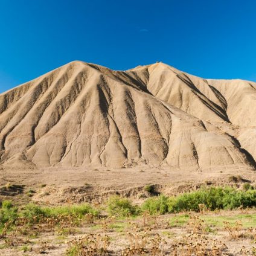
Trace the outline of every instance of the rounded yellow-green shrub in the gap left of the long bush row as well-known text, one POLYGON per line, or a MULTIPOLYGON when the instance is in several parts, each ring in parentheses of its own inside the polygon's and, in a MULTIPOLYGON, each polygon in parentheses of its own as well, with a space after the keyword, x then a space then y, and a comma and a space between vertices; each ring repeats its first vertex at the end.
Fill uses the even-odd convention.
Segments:
POLYGON ((112 196, 107 201, 107 212, 111 216, 127 217, 138 214, 138 208, 126 198, 112 196))

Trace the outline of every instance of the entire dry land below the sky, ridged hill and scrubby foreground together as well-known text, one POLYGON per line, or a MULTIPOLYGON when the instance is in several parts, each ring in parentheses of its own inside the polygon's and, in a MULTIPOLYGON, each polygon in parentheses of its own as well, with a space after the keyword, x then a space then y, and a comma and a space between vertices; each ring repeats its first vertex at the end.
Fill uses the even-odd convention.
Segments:
POLYGON ((255 255, 255 89, 71 62, 0 94, 0 255, 255 255))

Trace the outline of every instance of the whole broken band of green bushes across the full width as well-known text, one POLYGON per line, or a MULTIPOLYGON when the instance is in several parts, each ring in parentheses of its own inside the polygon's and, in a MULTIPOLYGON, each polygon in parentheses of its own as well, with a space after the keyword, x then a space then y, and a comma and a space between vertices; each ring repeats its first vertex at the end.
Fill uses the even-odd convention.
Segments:
MULTIPOLYGON (((179 194, 178 196, 166 197, 164 195, 151 197, 141 206, 133 205, 129 199, 120 196, 112 196, 107 202, 107 212, 110 216, 126 217, 136 216, 144 211, 150 214, 178 213, 180 211, 199 211, 199 204, 204 204, 210 210, 232 210, 242 206, 256 206, 256 190, 236 190, 231 187, 208 187, 199 190, 179 194)), ((98 214, 98 211, 89 204, 43 207, 33 203, 24 208, 14 206, 10 201, 2 202, 0 208, 0 224, 14 221, 17 217, 27 217, 31 221, 39 220, 40 216, 52 217, 58 214, 82 217, 87 213, 98 214), (36 219, 33 217, 37 216, 36 219)))

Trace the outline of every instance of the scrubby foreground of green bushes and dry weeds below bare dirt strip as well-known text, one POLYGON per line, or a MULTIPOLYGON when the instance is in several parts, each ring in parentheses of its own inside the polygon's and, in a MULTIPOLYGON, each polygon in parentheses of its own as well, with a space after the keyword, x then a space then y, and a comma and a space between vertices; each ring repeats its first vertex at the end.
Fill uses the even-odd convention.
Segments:
POLYGON ((155 196, 155 186, 146 185, 139 205, 120 196, 66 206, 4 200, 0 254, 255 255, 256 190, 248 182, 237 189, 240 176, 229 179, 233 187, 203 185, 171 197, 155 196))

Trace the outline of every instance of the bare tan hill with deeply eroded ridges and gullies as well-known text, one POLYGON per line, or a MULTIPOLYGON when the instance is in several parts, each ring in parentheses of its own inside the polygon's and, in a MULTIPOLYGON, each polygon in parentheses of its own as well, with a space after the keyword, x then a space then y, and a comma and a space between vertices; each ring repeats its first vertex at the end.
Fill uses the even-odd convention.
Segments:
POLYGON ((0 94, 5 167, 254 168, 256 83, 71 62, 0 94))

